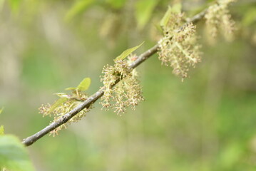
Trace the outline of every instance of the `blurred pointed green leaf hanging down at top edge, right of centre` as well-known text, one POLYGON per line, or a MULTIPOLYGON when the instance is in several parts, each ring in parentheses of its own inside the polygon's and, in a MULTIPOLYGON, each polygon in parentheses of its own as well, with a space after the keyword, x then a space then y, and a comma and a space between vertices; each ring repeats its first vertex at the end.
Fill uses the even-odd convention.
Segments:
POLYGON ((155 6, 158 4, 156 0, 140 0, 135 4, 135 19, 138 23, 138 28, 141 30, 148 23, 155 6))

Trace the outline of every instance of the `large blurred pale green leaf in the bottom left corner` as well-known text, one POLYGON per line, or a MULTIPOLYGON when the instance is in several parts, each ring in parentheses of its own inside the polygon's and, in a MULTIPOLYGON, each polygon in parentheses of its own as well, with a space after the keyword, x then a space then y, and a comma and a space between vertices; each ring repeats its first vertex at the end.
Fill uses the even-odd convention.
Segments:
POLYGON ((12 171, 33 171, 24 145, 14 135, 0 136, 0 166, 12 171))

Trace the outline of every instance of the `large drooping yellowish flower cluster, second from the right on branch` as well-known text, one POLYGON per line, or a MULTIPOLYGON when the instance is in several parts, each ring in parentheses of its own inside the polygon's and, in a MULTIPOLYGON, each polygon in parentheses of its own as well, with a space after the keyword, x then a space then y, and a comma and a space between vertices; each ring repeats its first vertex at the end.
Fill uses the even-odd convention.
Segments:
POLYGON ((176 76, 186 78, 190 66, 200 62, 200 46, 196 43, 195 26, 183 26, 183 14, 172 13, 168 24, 163 27, 164 37, 158 42, 159 59, 171 66, 176 76))

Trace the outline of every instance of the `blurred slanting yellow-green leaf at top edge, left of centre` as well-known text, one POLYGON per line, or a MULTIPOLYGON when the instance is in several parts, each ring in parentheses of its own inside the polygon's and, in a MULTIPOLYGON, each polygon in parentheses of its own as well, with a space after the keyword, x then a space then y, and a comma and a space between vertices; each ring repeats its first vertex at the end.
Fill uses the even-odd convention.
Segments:
POLYGON ((73 4, 73 6, 71 7, 71 9, 68 10, 68 12, 66 13, 65 16, 65 20, 66 21, 70 21, 71 19, 73 19, 74 16, 81 14, 82 12, 86 11, 86 9, 88 9, 88 7, 93 4, 95 0, 80 0, 77 1, 75 4, 73 4))

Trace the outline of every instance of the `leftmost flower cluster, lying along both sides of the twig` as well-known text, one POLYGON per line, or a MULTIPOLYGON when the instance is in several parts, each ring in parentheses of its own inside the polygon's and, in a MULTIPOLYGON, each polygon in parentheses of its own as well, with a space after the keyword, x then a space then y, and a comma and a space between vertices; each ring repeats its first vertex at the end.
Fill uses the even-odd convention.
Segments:
MULTIPOLYGON (((88 95, 77 90, 74 90, 71 93, 71 95, 66 93, 56 93, 56 94, 61 98, 56 100, 56 102, 53 103, 52 105, 48 103, 46 105, 41 105, 41 107, 39 108, 39 113, 43 114, 43 117, 46 115, 48 116, 53 115, 54 117, 53 122, 60 119, 63 115, 65 115, 66 113, 76 108, 78 105, 83 103, 83 101, 86 100, 86 98, 88 98, 88 95)), ((78 120, 81 120, 81 118, 86 116, 86 113, 88 113, 90 109, 91 107, 81 110, 80 113, 73 116, 73 118, 68 120, 67 123, 64 123, 63 125, 59 126, 55 130, 52 130, 50 135, 53 135, 53 137, 58 135, 59 130, 62 130, 63 128, 67 128, 67 125, 70 123, 76 123, 78 122, 78 120)))

